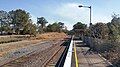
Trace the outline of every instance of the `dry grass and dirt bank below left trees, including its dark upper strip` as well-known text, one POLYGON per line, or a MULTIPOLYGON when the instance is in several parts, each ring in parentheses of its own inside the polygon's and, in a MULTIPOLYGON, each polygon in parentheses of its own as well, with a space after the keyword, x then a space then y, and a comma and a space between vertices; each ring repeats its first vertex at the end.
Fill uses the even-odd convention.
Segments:
POLYGON ((64 33, 45 33, 40 34, 35 38, 30 38, 28 36, 2 36, 0 37, 0 56, 6 55, 6 53, 11 50, 17 50, 30 45, 35 45, 43 40, 57 40, 66 37, 64 33), (22 41, 21 41, 22 40, 22 41))

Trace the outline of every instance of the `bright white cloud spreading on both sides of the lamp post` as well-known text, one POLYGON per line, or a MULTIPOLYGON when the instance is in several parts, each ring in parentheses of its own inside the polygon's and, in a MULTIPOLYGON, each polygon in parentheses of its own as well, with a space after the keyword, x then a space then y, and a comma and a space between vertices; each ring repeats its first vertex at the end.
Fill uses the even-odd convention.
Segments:
MULTIPOLYGON (((64 3, 61 6, 58 6, 54 10, 54 14, 59 16, 60 20, 62 20, 68 29, 72 29, 75 23, 82 22, 89 26, 89 9, 88 8, 79 8, 79 3, 64 3)), ((103 15, 103 14, 93 14, 92 12, 92 23, 95 24, 97 22, 107 23, 110 22, 111 16, 103 15)))

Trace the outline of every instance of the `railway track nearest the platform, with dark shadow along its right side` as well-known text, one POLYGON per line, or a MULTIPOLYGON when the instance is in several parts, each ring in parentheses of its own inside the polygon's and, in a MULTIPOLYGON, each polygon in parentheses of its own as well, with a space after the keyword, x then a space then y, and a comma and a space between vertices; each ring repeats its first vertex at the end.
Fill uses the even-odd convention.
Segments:
POLYGON ((63 67, 68 48, 69 40, 62 44, 53 56, 51 56, 51 58, 44 63, 43 67, 63 67))

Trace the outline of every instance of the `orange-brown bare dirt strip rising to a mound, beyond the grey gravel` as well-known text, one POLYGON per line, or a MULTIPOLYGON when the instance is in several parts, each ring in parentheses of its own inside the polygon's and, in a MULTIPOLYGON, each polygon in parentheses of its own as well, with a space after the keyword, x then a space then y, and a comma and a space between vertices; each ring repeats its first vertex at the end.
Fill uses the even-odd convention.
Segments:
POLYGON ((29 40, 0 44, 0 57, 4 56, 4 54, 6 54, 11 50, 34 45, 43 40, 57 40, 57 39, 63 39, 65 37, 66 37, 65 33, 52 32, 52 33, 39 34, 35 38, 31 38, 29 40))

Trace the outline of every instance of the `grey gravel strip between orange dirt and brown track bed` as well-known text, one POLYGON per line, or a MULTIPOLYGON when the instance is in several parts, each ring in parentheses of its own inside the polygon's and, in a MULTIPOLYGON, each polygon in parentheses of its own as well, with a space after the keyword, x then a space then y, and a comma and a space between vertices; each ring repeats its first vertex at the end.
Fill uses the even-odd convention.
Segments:
POLYGON ((38 43, 34 46, 28 46, 28 47, 10 51, 3 58, 0 59, 0 66, 10 63, 11 61, 17 60, 18 58, 21 58, 23 56, 31 55, 31 54, 35 53, 38 49, 40 49, 40 50, 47 49, 48 47, 51 46, 48 43, 50 43, 50 42, 45 41, 42 43, 38 43), (48 46, 45 47, 43 44, 46 44, 48 46), (42 47, 44 47, 44 49, 42 49, 42 47))

